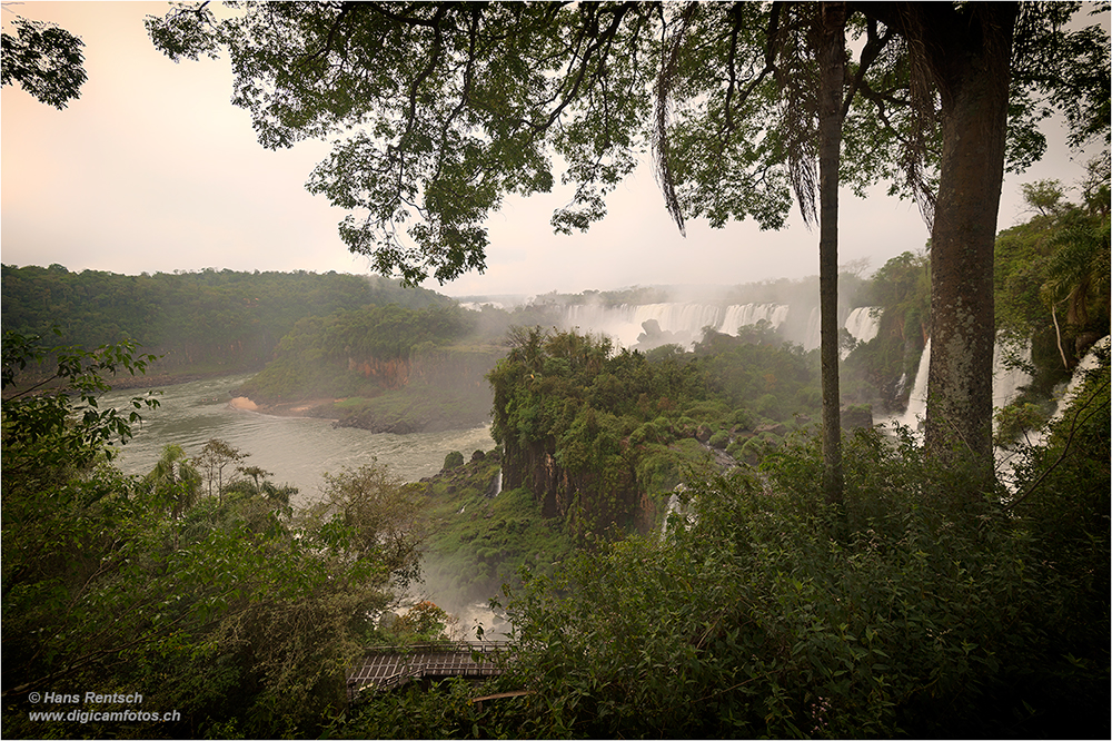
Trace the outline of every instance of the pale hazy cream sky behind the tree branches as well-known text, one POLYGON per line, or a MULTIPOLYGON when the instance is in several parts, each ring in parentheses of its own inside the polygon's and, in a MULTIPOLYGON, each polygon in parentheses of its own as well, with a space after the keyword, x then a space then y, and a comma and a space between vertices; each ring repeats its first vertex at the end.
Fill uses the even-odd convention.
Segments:
MULTIPOLYGON (((70 270, 113 273, 297 270, 365 273, 347 251, 344 217, 304 184, 327 145, 264 149, 250 118, 234 107, 227 60, 176 65, 155 50, 142 19, 162 2, 3 2, 3 24, 18 13, 52 21, 86 43, 89 79, 62 111, 3 88, 2 241, 9 265, 60 263, 70 270)), ((1104 17, 1105 26, 1108 16, 1104 17)), ((1025 217, 1021 182, 1084 172, 1064 134, 1048 130, 1043 161, 1004 182, 999 228, 1025 217)), ((647 167, 612 194, 607 218, 587 234, 552 233, 548 219, 568 194, 513 197, 492 216, 485 274, 439 286, 449 295, 578 293, 634 285, 735 285, 818 271, 817 231, 793 213, 788 228, 759 231, 752 221, 715 230, 689 223, 682 237, 668 219, 647 167)), ((929 234, 910 201, 841 198, 841 263, 868 258, 871 270, 929 234)))

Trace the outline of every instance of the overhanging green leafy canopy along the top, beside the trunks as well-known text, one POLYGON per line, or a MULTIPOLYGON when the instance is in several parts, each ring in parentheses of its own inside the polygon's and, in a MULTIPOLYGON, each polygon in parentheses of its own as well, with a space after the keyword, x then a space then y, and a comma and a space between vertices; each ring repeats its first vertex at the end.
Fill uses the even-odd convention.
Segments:
MULTIPOLYGON (((340 231, 353 250, 374 255, 384 273, 447 280, 485 267, 483 220, 503 196, 547 191, 557 166, 577 190, 553 226, 582 229, 600 218, 603 196, 654 146, 661 117, 685 215, 781 226, 791 206, 787 142, 784 118, 771 113, 791 101, 774 91, 772 73, 787 65, 768 42, 773 33, 781 43, 792 37, 777 29, 780 4, 255 3, 229 14, 201 3, 147 24, 172 59, 228 53, 232 100, 251 112, 264 146, 335 141, 308 186, 351 211, 340 231)), ((911 20, 901 20, 910 11, 880 4, 854 7, 864 17, 850 26, 883 51, 866 52, 880 57, 872 77, 851 66, 862 76, 847 85, 870 105, 847 111, 856 134, 846 142, 846 175, 857 188, 887 178, 910 194, 912 180, 898 174, 917 127, 929 137, 916 155, 929 194, 937 103, 910 105, 909 91, 930 95, 910 88, 915 41, 888 43, 894 32, 911 33, 911 20)), ((1091 71, 1101 60, 1099 28, 1062 28, 1076 10, 1029 3, 1021 13, 1013 167, 1041 155, 1034 124, 1052 106, 1066 110, 1078 142, 1104 130, 1108 83, 1091 71)))

